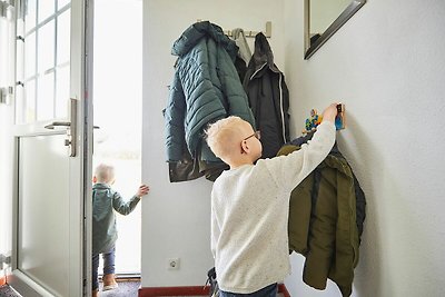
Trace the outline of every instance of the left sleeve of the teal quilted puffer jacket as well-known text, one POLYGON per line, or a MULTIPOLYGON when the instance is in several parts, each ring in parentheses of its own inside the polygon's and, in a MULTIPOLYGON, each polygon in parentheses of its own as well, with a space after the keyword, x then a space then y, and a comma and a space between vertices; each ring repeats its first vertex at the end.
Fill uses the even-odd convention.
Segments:
POLYGON ((175 73, 167 108, 164 112, 166 125, 167 161, 179 161, 182 158, 185 146, 184 118, 186 112, 186 98, 178 73, 175 73))

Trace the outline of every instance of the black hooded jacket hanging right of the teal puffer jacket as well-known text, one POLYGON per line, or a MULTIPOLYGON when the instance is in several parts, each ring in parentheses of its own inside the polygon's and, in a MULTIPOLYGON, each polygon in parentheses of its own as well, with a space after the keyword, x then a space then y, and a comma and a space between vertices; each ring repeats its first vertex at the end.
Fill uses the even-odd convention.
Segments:
POLYGON ((263 157, 275 157, 279 148, 289 141, 289 91, 263 33, 255 37, 254 56, 243 85, 254 112, 256 129, 261 132, 263 157))

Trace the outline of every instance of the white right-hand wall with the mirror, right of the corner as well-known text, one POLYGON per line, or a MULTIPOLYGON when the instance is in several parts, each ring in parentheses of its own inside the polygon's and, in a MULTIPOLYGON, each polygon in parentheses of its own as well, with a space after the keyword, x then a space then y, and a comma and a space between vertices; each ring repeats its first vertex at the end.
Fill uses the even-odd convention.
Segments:
MULTIPOLYGON (((285 1, 293 131, 310 108, 346 103, 339 148, 368 202, 354 296, 445 296, 445 2, 369 0, 307 61, 303 2, 285 1)), ((291 296, 340 296, 291 261, 291 296)))

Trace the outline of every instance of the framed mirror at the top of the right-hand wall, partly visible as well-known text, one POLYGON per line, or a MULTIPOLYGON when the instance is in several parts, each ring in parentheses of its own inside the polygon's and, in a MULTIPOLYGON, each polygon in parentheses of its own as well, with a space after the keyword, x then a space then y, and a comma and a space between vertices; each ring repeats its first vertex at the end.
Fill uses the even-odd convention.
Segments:
POLYGON ((305 60, 309 59, 366 0, 305 0, 305 60))

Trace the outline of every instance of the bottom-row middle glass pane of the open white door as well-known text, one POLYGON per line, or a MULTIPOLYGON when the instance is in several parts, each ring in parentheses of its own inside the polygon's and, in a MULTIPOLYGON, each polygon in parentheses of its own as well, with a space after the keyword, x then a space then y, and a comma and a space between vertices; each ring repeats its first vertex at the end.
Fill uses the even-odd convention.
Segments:
POLYGON ((55 75, 53 72, 40 76, 38 81, 37 120, 53 118, 55 102, 55 75))

